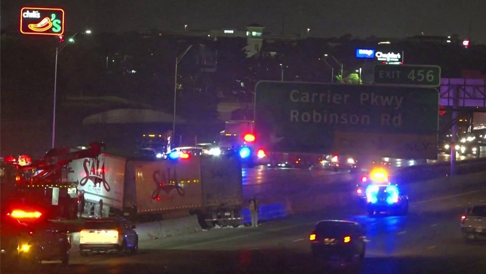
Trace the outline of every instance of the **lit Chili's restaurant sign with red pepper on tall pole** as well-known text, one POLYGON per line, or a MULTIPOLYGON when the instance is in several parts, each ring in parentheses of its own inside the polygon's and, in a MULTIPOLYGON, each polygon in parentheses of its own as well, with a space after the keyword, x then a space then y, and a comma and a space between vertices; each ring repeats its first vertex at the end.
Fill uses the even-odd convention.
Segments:
POLYGON ((64 10, 23 7, 20 10, 20 32, 36 35, 62 35, 64 33, 64 10))

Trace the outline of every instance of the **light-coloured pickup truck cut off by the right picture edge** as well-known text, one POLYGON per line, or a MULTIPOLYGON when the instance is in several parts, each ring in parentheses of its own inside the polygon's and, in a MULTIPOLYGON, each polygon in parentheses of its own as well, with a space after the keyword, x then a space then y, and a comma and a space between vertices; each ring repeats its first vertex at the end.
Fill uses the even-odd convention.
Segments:
POLYGON ((466 241, 486 237, 486 204, 476 204, 461 216, 461 230, 466 241))

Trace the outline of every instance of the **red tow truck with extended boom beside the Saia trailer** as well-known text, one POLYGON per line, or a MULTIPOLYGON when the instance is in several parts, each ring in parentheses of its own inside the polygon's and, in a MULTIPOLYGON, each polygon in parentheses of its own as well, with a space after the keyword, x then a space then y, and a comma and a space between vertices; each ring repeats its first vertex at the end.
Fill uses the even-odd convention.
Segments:
POLYGON ((0 161, 2 193, 16 201, 36 201, 45 208, 48 219, 75 219, 77 186, 68 182, 68 164, 76 159, 96 158, 102 147, 103 143, 93 142, 88 147, 52 148, 38 160, 28 155, 7 156, 0 161))

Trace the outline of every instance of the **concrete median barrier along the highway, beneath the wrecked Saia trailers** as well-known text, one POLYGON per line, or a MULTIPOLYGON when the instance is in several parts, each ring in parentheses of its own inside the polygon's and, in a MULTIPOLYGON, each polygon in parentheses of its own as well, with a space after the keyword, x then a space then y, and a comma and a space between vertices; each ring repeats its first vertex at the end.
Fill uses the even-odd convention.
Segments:
MULTIPOLYGON (((411 201, 417 201, 414 197, 433 198, 438 190, 454 190, 471 186, 486 186, 486 171, 459 175, 456 177, 443 177, 427 181, 419 181, 405 186, 407 195, 411 201)), ((457 192, 457 193, 460 193, 457 192)), ((333 193, 319 193, 316 189, 306 189, 286 197, 273 197, 271 200, 260 201, 260 220, 283 218, 293 214, 325 210, 350 205, 356 202, 354 191, 339 191, 333 193)), ((243 208, 243 220, 250 222, 250 211, 243 208)), ((156 238, 170 237, 173 235, 187 234, 201 230, 196 216, 179 219, 167 219, 155 222, 137 224, 135 229, 139 234, 139 241, 156 238)), ((72 233, 72 250, 79 250, 79 233, 72 233)))

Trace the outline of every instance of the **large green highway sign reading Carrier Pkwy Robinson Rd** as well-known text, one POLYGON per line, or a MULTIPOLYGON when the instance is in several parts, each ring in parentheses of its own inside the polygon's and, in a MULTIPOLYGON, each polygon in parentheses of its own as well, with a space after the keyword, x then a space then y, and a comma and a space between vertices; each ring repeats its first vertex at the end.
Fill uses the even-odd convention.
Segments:
POLYGON ((436 159, 435 88, 260 81, 255 135, 272 151, 436 159))

